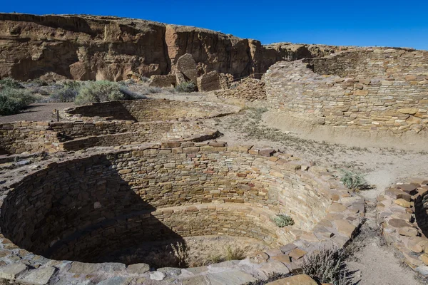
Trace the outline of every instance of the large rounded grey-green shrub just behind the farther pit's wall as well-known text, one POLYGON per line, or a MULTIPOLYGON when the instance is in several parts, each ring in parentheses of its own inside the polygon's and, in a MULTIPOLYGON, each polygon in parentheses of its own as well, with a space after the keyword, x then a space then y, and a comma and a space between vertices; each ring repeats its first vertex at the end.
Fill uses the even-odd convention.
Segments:
POLYGON ((123 100, 124 98, 121 86, 116 82, 88 81, 81 86, 74 102, 78 105, 85 105, 93 102, 123 100))

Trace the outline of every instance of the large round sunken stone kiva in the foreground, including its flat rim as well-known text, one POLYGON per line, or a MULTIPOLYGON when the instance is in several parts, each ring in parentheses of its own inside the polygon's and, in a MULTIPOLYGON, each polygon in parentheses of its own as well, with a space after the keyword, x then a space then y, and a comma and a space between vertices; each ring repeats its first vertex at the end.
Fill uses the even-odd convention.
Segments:
POLYGON ((305 255, 344 247, 365 212, 364 200, 323 167, 224 142, 76 154, 44 162, 1 187, 0 277, 24 282, 43 276, 50 284, 156 279, 165 275, 147 264, 97 262, 113 250, 204 235, 258 239, 271 249, 242 261, 178 269, 169 281, 222 274, 241 284, 273 271, 298 271, 305 255), (295 224, 277 227, 272 217, 278 213, 295 224))

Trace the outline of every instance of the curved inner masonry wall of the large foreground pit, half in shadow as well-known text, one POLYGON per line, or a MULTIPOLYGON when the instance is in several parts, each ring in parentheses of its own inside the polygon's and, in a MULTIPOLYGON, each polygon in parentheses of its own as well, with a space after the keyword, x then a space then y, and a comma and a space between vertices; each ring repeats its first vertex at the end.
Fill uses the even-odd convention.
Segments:
POLYGON ((101 244, 126 247, 123 237, 131 232, 129 242, 221 228, 283 244, 325 217, 330 187, 311 172, 300 172, 298 162, 250 152, 259 150, 168 142, 53 163, 11 186, 1 211, 2 232, 32 252, 55 256, 58 250, 79 258, 101 244), (261 217, 262 209, 267 217, 261 217), (295 225, 277 229, 270 222, 274 212, 290 214, 295 225), (183 222, 186 217, 198 227, 183 222), (104 238, 78 242, 83 232, 104 238))

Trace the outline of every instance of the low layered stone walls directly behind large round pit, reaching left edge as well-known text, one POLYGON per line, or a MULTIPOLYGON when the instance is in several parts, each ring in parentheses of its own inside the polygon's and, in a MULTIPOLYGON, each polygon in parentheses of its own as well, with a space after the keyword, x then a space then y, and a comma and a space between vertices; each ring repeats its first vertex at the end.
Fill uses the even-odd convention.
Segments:
POLYGON ((129 145, 165 140, 206 140, 217 130, 199 122, 68 121, 16 122, 0 125, 0 149, 4 154, 82 150, 95 146, 129 145))

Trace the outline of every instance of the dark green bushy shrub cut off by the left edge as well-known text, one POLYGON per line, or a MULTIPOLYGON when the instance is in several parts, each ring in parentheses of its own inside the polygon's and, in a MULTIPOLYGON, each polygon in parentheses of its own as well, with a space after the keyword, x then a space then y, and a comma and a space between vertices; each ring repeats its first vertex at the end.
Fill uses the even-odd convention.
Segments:
POLYGON ((34 103, 36 98, 29 90, 3 88, 0 90, 0 115, 14 115, 34 103))

